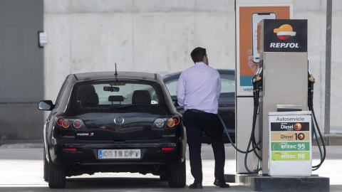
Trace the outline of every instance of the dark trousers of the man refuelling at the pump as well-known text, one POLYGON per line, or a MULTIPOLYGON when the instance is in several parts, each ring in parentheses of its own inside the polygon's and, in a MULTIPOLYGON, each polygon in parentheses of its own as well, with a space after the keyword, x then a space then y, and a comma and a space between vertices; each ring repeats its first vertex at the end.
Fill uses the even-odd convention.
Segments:
POLYGON ((187 130, 191 174, 195 178, 195 183, 202 183, 203 180, 201 158, 202 132, 207 134, 212 143, 215 159, 215 179, 224 181, 223 126, 217 114, 186 110, 183 115, 183 122, 187 130))

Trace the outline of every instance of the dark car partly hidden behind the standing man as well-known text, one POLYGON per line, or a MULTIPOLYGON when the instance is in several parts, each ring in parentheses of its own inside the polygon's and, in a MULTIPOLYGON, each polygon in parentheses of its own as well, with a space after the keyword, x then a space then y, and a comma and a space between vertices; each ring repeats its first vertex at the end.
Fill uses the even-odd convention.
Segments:
MULTIPOLYGON (((219 95, 218 114, 222 118, 224 125, 227 127, 232 142, 235 142, 235 71, 234 70, 218 70, 221 78, 221 94, 219 95)), ((181 72, 165 75, 163 80, 170 92, 174 104, 177 106, 177 82, 181 72)), ((177 110, 183 114, 184 110, 177 107, 177 110)), ((227 133, 223 133, 224 142, 229 143, 227 133)), ((208 143, 209 139, 203 134, 202 143, 208 143)))

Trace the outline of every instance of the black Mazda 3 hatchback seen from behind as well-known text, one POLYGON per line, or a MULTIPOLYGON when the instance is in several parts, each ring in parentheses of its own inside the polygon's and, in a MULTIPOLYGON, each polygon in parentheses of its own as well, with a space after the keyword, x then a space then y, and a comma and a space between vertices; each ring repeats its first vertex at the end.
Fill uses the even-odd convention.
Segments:
POLYGON ((43 129, 44 179, 64 188, 66 176, 95 172, 154 174, 184 187, 186 135, 162 77, 99 72, 66 77, 43 129))

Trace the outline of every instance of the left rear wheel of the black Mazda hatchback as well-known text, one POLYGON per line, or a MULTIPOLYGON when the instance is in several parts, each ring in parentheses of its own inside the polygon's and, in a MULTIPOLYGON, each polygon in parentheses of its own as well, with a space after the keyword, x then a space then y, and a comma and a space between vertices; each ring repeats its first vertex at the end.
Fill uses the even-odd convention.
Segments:
POLYGON ((52 161, 50 161, 48 171, 48 186, 50 188, 65 188, 66 174, 63 169, 59 169, 52 161))

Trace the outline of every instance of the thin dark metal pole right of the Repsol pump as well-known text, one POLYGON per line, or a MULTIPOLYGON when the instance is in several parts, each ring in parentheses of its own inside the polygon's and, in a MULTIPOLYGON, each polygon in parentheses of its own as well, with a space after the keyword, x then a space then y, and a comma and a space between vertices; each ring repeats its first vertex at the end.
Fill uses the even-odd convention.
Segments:
POLYGON ((330 134, 330 98, 331 98, 331 18, 332 0, 326 1, 326 101, 324 110, 324 134, 330 134))

